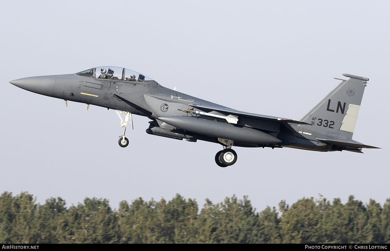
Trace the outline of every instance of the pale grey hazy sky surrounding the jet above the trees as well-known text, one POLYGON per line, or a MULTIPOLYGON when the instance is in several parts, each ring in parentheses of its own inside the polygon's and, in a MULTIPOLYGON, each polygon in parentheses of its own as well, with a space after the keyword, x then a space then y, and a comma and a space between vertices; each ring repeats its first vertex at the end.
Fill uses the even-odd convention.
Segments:
POLYGON ((0 16, 0 191, 44 203, 85 197, 221 202, 248 195, 257 212, 280 200, 350 194, 383 203, 389 193, 388 1, 5 1, 0 16), (145 133, 134 116, 119 147, 113 110, 46 97, 8 81, 125 67, 237 110, 300 119, 341 74, 370 78, 354 140, 383 149, 311 152, 234 148, 220 168, 218 144, 145 133))

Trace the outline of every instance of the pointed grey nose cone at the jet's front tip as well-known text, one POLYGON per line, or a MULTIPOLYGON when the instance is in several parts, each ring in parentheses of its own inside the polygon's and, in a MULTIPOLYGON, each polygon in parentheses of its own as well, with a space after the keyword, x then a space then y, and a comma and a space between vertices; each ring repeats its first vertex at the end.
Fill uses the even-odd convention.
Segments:
POLYGON ((53 92, 54 81, 55 76, 39 76, 20 78, 9 81, 9 83, 30 92, 50 96, 53 92))

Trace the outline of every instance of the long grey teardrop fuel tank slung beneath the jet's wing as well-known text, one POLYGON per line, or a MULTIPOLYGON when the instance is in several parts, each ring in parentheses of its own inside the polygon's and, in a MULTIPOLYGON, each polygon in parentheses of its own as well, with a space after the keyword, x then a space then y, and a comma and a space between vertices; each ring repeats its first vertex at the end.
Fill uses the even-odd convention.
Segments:
POLYGON ((199 117, 167 116, 158 119, 185 131, 216 138, 254 144, 277 144, 282 142, 278 138, 256 129, 199 117))

